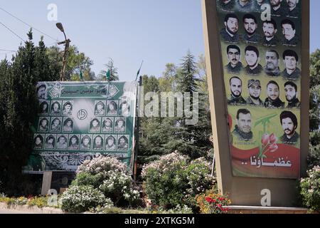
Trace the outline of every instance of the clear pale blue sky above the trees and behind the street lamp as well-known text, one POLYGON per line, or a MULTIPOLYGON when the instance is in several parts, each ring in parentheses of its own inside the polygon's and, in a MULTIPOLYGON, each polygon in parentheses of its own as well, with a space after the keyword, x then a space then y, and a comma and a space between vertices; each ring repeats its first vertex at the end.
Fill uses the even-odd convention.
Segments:
MULTIPOLYGON (((142 74, 161 76, 166 63, 180 63, 186 51, 204 53, 201 0, 28 0, 2 1, 0 7, 53 38, 63 40, 48 21, 48 4, 58 6, 58 21, 79 50, 95 63, 99 73, 109 58, 119 68, 121 81, 142 74)), ((311 0, 311 51, 320 48, 320 1, 311 0), (314 29, 312 29, 314 28, 314 29)), ((28 26, 0 11, 0 22, 26 39, 28 26)), ((0 25, 0 49, 16 50, 21 40, 0 25)), ((34 31, 38 42, 41 33, 34 31)), ((47 45, 55 41, 45 36, 47 45)), ((0 58, 8 51, 0 51, 0 58)))

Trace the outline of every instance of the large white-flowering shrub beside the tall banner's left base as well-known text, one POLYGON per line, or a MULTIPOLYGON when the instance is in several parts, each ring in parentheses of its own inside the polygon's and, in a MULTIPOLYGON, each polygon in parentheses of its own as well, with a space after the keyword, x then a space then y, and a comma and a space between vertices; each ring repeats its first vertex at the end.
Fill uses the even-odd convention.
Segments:
POLYGON ((188 160, 174 152, 144 165, 142 177, 151 204, 165 209, 183 204, 195 209, 196 195, 212 188, 214 179, 210 176, 210 163, 204 158, 188 160))

